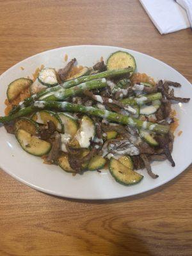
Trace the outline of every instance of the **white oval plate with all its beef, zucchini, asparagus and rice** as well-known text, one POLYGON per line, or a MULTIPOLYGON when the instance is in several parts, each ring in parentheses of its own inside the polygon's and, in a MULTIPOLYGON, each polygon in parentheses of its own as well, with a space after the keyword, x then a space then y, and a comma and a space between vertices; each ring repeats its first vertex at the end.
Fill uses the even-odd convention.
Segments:
POLYGON ((191 84, 146 54, 61 47, 17 63, 0 83, 0 166, 32 188, 121 198, 191 164, 191 84))

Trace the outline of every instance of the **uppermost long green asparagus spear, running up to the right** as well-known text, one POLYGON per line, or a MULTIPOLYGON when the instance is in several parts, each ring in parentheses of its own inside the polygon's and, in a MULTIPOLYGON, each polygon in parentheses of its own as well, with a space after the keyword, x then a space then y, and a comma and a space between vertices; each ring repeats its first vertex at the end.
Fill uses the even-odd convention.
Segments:
POLYGON ((59 84, 57 86, 54 86, 52 88, 47 88, 46 90, 36 93, 34 95, 32 95, 31 97, 28 97, 27 99, 25 99, 22 102, 22 105, 18 105, 16 106, 11 113, 16 113, 17 111, 19 111, 19 109, 21 108, 20 106, 24 106, 27 107, 29 106, 31 103, 35 102, 35 100, 40 99, 40 97, 43 97, 44 95, 51 93, 51 92, 56 92, 58 90, 60 90, 61 88, 70 88, 73 86, 76 86, 77 84, 81 84, 81 83, 85 83, 88 81, 92 81, 95 79, 102 79, 102 78, 109 78, 109 77, 115 77, 115 76, 123 76, 125 74, 129 74, 130 72, 132 72, 132 67, 129 68, 121 68, 121 69, 116 69, 116 70, 107 70, 95 75, 90 75, 90 76, 83 76, 83 77, 79 77, 76 79, 72 79, 70 81, 64 82, 62 84, 59 84))

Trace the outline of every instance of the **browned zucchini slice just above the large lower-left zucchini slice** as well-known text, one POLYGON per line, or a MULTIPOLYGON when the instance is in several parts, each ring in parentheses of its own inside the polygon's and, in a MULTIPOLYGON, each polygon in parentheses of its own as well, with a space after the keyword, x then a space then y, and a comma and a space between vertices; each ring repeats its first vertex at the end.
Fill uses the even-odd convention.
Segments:
POLYGON ((21 117, 15 122, 15 132, 22 129, 31 135, 36 135, 40 131, 39 125, 28 117, 21 117))

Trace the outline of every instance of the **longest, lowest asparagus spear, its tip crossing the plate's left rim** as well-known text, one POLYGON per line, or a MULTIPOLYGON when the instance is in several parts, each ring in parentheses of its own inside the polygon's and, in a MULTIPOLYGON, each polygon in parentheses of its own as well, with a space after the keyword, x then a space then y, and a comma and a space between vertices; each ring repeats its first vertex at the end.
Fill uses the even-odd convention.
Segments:
POLYGON ((143 122, 137 118, 132 118, 129 116, 121 115, 112 111, 102 110, 99 108, 86 107, 83 105, 72 104, 69 102, 57 102, 57 101, 36 101, 32 106, 21 109, 19 112, 0 117, 0 123, 10 122, 15 120, 15 118, 19 118, 20 116, 29 115, 33 111, 38 109, 56 109, 59 111, 69 111, 69 112, 81 112, 86 113, 88 115, 99 116, 102 118, 106 118, 110 121, 117 122, 119 124, 130 125, 131 127, 136 127, 138 129, 148 129, 150 131, 154 131, 157 133, 167 133, 169 131, 169 127, 166 125, 154 124, 151 122, 143 122))

